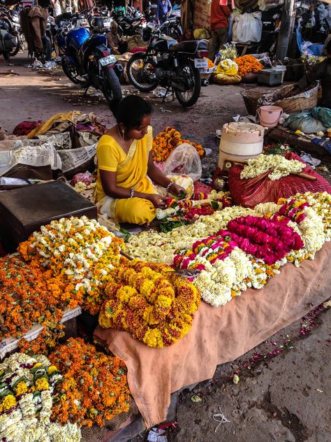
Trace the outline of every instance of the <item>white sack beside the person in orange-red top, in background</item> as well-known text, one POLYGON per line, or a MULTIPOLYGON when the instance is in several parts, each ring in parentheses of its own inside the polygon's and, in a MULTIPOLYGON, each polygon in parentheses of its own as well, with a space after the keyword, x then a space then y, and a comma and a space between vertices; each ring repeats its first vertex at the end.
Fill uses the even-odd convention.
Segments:
POLYGON ((261 15, 260 12, 236 15, 235 24, 233 24, 233 41, 238 43, 258 43, 261 41, 261 15))

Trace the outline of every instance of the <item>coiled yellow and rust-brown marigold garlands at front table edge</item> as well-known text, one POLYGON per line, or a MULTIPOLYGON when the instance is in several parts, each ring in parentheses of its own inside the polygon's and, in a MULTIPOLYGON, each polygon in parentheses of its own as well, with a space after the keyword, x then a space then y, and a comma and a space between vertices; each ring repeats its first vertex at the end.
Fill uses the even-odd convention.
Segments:
POLYGON ((108 300, 99 315, 103 328, 131 332, 149 347, 165 347, 189 332, 200 294, 165 264, 138 260, 112 271, 108 300))

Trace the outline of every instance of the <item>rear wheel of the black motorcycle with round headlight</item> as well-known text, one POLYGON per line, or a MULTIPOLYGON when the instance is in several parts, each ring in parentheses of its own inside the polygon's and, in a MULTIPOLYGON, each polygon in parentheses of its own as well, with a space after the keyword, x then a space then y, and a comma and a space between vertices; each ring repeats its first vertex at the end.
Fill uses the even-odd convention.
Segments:
POLYGON ((190 106, 193 106, 193 104, 196 104, 201 91, 200 72, 196 69, 190 59, 179 60, 179 79, 182 79, 185 82, 192 82, 192 87, 184 92, 174 88, 179 104, 184 106, 184 108, 189 108, 190 106))

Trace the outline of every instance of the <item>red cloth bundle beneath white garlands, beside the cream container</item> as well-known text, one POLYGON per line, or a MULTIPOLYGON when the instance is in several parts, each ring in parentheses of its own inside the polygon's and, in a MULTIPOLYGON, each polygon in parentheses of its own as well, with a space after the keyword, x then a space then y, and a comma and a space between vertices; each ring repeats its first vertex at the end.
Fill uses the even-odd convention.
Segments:
MULTIPOLYGON (((297 159, 304 163, 298 155, 292 152, 286 153, 285 157, 286 159, 297 159)), ((272 181, 267 178, 270 171, 256 178, 242 180, 240 178, 242 169, 244 169, 244 165, 235 164, 231 167, 228 176, 230 192, 237 206, 253 208, 259 203, 269 201, 276 203, 279 198, 289 198, 298 192, 328 192, 331 194, 331 186, 328 181, 314 172, 310 166, 306 166, 302 173, 315 176, 317 178, 315 181, 295 175, 284 176, 280 180, 272 181)))

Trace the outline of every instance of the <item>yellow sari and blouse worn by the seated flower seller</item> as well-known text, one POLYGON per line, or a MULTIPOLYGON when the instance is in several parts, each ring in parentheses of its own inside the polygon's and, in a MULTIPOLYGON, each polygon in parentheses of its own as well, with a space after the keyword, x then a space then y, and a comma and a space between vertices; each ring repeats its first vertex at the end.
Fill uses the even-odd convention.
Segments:
POLYGON ((116 172, 117 185, 137 192, 154 194, 152 182, 147 177, 149 151, 152 149, 152 127, 141 140, 134 140, 128 154, 115 138, 103 135, 96 148, 98 176, 96 181, 96 203, 101 215, 107 215, 117 222, 145 224, 155 218, 155 208, 147 199, 108 197, 103 191, 100 170, 116 172))

